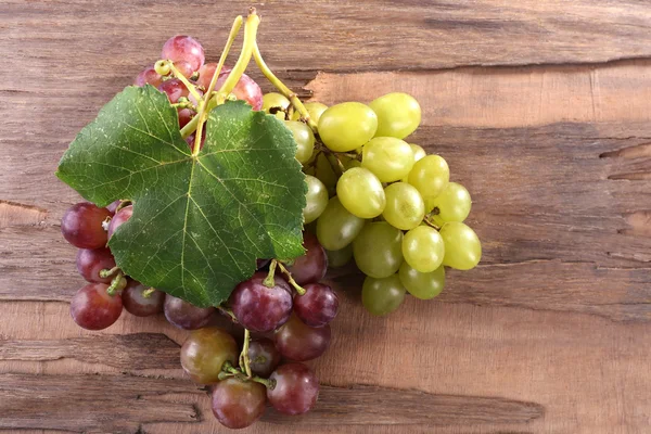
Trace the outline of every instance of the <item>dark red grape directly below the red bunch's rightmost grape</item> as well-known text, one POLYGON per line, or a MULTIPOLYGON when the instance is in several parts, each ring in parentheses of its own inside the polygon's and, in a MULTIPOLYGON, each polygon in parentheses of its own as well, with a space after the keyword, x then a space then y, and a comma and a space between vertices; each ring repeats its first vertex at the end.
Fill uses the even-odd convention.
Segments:
POLYGON ((284 357, 307 361, 321 356, 330 346, 330 326, 309 327, 295 315, 273 336, 276 347, 284 357))

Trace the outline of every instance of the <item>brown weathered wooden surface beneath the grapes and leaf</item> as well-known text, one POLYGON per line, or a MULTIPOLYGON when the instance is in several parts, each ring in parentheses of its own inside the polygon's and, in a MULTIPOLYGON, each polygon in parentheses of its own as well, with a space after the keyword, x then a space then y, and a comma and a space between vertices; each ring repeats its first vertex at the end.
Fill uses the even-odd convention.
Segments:
MULTIPOLYGON (((52 174, 167 37, 190 33, 214 60, 248 5, 0 0, 0 430, 226 431, 179 368, 183 332, 129 315, 102 333, 73 323, 81 279, 59 220, 78 197, 52 174)), ((484 258, 386 318, 363 312, 359 278, 337 278, 318 407, 248 432, 650 432, 651 4, 258 9, 268 63, 302 94, 419 99, 411 141, 469 187, 484 258)))

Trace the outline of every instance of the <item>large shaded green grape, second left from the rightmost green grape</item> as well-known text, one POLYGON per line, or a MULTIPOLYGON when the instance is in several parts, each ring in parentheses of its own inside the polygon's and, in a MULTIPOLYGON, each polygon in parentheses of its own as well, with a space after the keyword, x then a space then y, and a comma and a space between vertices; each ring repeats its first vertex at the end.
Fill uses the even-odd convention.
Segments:
POLYGON ((403 231, 386 221, 367 224, 353 241, 355 264, 375 279, 394 275, 403 264, 403 231))

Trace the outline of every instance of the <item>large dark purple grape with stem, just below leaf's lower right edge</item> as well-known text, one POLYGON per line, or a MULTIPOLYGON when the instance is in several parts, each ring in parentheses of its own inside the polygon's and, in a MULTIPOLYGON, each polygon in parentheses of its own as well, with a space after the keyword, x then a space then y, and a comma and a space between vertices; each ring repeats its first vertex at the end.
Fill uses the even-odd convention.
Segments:
POLYGON ((281 277, 267 288, 266 272, 256 272, 235 286, 229 303, 240 324, 248 330, 267 333, 284 324, 292 314, 292 289, 281 277))

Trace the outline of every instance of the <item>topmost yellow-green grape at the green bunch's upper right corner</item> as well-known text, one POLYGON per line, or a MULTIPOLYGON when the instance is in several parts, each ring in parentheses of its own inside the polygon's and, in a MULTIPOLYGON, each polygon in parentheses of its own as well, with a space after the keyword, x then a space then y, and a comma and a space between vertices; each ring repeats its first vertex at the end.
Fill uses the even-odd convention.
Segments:
POLYGON ((378 115, 375 137, 404 139, 416 131, 420 125, 420 105, 407 93, 387 93, 371 102, 369 106, 378 115))

